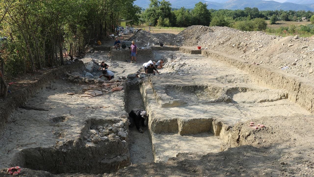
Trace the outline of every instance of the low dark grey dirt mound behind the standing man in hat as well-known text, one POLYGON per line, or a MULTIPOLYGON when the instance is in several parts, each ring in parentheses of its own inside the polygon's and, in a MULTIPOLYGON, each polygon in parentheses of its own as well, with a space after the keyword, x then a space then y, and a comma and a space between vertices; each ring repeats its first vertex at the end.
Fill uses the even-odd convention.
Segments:
POLYGON ((181 45, 181 40, 171 33, 149 33, 144 30, 139 30, 134 36, 127 39, 127 41, 135 41, 138 46, 148 46, 149 45, 159 45, 163 43, 164 45, 179 46, 181 45))

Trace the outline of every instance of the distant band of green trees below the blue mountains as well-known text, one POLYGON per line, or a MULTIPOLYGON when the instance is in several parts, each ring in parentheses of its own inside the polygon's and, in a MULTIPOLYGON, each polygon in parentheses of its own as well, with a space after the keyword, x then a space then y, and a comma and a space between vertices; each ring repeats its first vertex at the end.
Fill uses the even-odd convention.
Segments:
POLYGON ((152 23, 154 26, 187 27, 191 25, 230 26, 238 21, 247 21, 256 18, 282 21, 297 21, 302 17, 310 20, 314 12, 295 10, 265 10, 246 7, 244 10, 207 9, 207 4, 197 3, 194 9, 172 9, 171 3, 165 0, 150 0, 149 8, 140 14, 139 23, 152 23))

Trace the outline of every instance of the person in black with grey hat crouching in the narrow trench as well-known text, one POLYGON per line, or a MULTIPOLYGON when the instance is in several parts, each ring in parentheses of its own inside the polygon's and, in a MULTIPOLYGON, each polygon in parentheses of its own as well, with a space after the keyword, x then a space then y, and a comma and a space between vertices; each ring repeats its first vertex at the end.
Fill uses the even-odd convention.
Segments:
POLYGON ((133 109, 129 113, 129 119, 130 119, 130 125, 129 127, 134 127, 134 124, 139 132, 143 133, 143 129, 140 128, 140 122, 142 123, 142 127, 146 127, 145 125, 145 119, 148 118, 148 114, 143 109, 133 109))

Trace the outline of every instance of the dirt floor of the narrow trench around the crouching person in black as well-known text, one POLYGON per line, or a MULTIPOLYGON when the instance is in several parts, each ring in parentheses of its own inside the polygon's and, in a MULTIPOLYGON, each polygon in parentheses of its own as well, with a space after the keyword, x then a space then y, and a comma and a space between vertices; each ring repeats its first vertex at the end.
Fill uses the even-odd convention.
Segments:
MULTIPOLYGON (((127 112, 132 109, 145 109, 143 99, 138 89, 130 90, 128 94, 127 112)), ((145 123, 147 124, 147 123, 145 123)), ((148 127, 143 128, 144 133, 139 133, 136 127, 130 128, 130 158, 131 163, 154 162, 152 141, 149 138, 148 127)))

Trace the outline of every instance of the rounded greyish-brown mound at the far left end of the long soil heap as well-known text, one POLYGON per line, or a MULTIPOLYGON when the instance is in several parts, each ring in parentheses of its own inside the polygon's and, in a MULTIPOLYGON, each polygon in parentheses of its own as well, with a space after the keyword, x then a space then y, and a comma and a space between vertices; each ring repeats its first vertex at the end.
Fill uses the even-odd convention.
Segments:
POLYGON ((213 30, 208 26, 193 25, 181 31, 177 37, 181 39, 183 45, 193 46, 196 45, 204 35, 212 32, 213 30))

